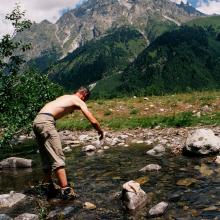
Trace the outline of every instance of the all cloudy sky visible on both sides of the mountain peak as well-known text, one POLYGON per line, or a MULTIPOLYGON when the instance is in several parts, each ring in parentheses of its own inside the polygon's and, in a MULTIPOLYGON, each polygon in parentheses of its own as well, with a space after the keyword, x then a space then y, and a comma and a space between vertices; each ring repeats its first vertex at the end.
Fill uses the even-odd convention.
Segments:
MULTIPOLYGON (((32 22, 41 22, 47 19, 55 23, 68 9, 73 9, 85 0, 0 0, 0 37, 12 33, 12 26, 5 21, 5 15, 10 13, 19 3, 26 11, 26 18, 32 22)), ((180 3, 181 0, 170 0, 180 3)), ((187 0, 182 0, 186 3, 187 0)), ((220 0, 188 0, 192 6, 206 14, 220 14, 220 0)))

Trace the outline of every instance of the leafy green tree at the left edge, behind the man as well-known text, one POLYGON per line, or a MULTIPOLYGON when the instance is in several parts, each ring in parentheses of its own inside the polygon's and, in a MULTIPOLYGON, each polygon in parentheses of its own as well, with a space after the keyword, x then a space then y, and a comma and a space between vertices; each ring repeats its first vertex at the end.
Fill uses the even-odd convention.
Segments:
POLYGON ((46 75, 34 70, 22 70, 24 52, 30 44, 16 41, 16 34, 30 28, 30 20, 16 5, 6 15, 14 27, 12 35, 6 34, 0 40, 0 146, 9 144, 11 138, 30 129, 36 112, 44 102, 62 93, 62 89, 51 83, 46 75))

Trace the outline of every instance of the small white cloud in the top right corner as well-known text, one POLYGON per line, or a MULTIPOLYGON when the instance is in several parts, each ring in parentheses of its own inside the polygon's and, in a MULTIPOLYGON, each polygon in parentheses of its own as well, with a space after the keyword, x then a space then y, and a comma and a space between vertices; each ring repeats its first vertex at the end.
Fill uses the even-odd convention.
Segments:
POLYGON ((220 14, 220 0, 200 0, 196 9, 208 15, 220 14))

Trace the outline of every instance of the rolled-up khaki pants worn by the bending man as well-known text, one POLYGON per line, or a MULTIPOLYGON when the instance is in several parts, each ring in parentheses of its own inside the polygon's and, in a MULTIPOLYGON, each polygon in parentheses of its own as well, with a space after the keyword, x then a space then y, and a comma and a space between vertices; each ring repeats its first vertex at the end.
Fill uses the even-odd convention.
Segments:
POLYGON ((60 136, 53 116, 38 114, 33 122, 33 130, 39 145, 44 170, 56 170, 65 166, 60 136))

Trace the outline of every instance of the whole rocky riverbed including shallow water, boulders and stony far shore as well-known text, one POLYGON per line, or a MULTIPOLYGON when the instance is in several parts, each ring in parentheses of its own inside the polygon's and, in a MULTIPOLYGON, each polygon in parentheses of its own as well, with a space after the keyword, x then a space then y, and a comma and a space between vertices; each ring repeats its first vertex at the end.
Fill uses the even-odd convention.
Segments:
MULTIPOLYGON (((35 195, 26 193, 42 176, 34 147, 35 153, 26 158, 35 162, 32 168, 16 168, 21 160, 15 158, 1 163, 0 200, 13 205, 2 205, 0 219, 218 219, 220 171, 215 150, 219 146, 219 127, 106 131, 101 142, 95 131, 60 131, 60 135, 68 177, 80 197, 67 203, 48 202, 40 191, 35 195), (195 151, 211 139, 213 148, 208 149, 213 152, 205 157, 182 155, 187 142, 196 143, 192 148, 195 151), (8 169, 10 166, 13 169, 8 169), (134 187, 130 187, 131 180, 134 187), (127 202, 123 203, 125 189, 127 202), (10 193, 12 190, 16 192, 10 193), (131 213, 129 207, 136 206, 137 211, 131 213)), ((22 136, 16 141, 22 147, 23 141, 31 138, 22 136)))

